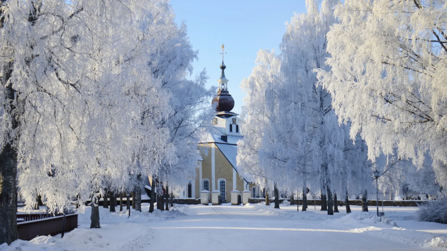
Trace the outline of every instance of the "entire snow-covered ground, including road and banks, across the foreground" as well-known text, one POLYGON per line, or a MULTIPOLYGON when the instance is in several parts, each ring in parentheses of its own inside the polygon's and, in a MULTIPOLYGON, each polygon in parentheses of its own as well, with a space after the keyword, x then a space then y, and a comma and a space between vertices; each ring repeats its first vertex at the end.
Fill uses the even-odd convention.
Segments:
MULTIPOLYGON (((118 207, 117 207, 118 209, 118 207)), ((100 207, 101 229, 89 229, 90 210, 79 215, 80 228, 59 236, 18 240, 1 251, 83 250, 426 250, 447 249, 447 225, 413 220, 416 208, 385 207, 328 216, 319 207, 296 212, 296 206, 264 204, 178 205, 169 212, 109 213, 100 207)))

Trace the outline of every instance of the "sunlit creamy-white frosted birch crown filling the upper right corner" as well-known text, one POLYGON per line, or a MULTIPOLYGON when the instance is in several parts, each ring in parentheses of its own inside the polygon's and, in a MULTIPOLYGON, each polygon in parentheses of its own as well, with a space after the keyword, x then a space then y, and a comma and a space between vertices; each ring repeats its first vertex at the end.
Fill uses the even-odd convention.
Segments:
POLYGON ((320 84, 333 97, 340 122, 352 121, 368 156, 433 158, 447 184, 447 4, 441 0, 346 0, 328 33, 331 56, 320 84))

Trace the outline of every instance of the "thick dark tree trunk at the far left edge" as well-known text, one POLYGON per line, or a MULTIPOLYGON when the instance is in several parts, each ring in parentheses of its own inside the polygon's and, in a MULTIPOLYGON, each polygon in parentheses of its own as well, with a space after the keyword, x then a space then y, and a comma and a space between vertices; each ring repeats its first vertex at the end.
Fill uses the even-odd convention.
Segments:
POLYGON ((0 153, 0 243, 19 238, 16 215, 17 151, 9 142, 0 153))

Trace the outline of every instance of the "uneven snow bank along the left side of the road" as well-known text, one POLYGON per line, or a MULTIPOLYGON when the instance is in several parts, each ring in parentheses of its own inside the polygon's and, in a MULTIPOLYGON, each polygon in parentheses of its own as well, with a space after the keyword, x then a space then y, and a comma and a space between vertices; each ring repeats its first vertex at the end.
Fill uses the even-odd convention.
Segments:
MULTIPOLYGON (((122 212, 109 212, 109 209, 99 207, 100 229, 89 229, 90 206, 78 215, 80 228, 65 233, 63 238, 56 236, 38 236, 30 241, 17 240, 7 246, 0 245, 0 251, 110 251, 110 250, 139 250, 149 245, 152 239, 152 230, 148 225, 133 222, 164 221, 186 215, 188 207, 177 205, 169 211, 155 209, 149 213, 149 204, 143 203, 142 212, 131 209, 131 217, 127 218, 127 210, 122 212), (132 241, 135 240, 135 241, 132 241), (110 247, 113 247, 112 249, 110 247)), ((119 206, 116 207, 119 211, 119 206)))

